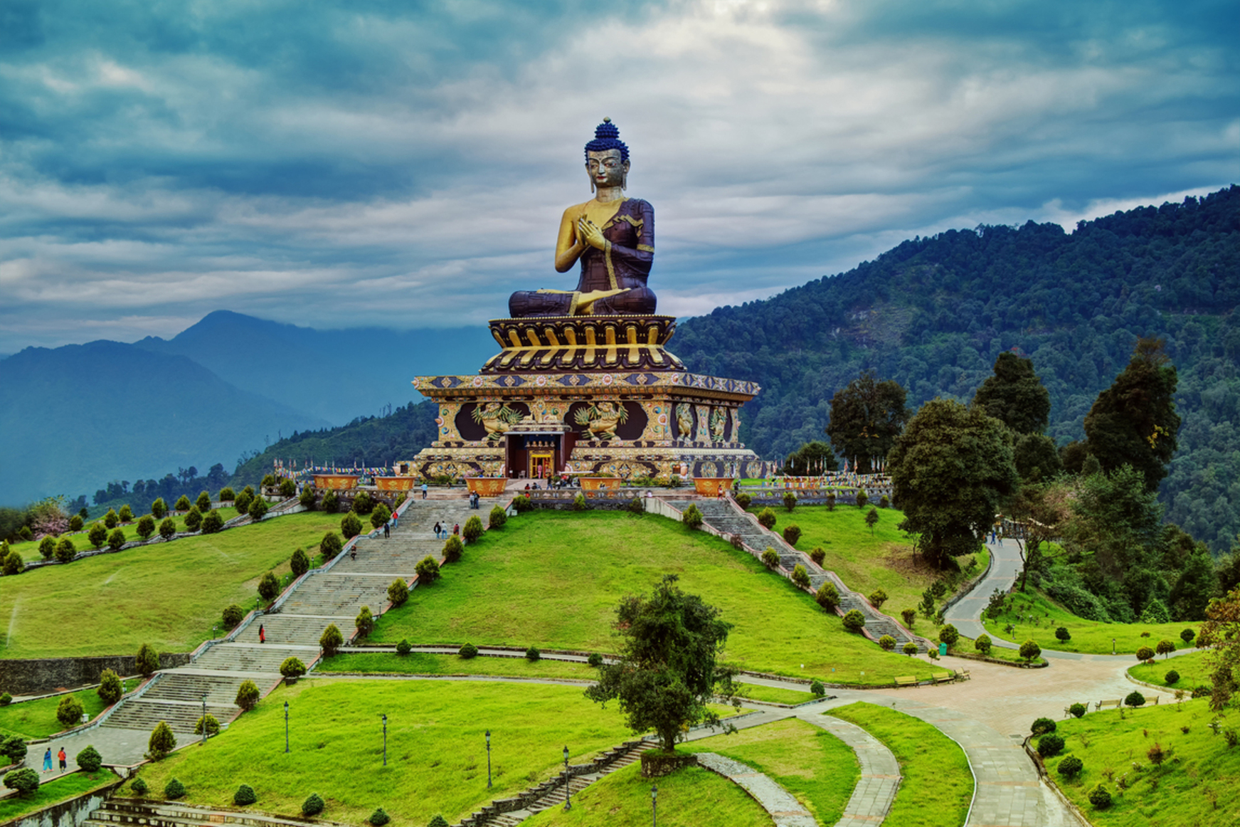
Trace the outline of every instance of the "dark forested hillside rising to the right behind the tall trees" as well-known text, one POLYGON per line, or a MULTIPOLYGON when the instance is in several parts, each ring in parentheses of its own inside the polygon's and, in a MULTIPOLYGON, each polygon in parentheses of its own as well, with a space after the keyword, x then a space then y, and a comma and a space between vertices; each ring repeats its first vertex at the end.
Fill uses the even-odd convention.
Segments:
POLYGON ((1240 187, 1081 222, 916 238, 848 273, 686 320, 693 371, 751 379, 742 439, 769 459, 822 439, 828 400, 862 369, 909 391, 972 398, 1018 348, 1050 391, 1048 433, 1083 436, 1097 393, 1140 336, 1179 371, 1179 451, 1166 518, 1218 553, 1240 532, 1240 187))

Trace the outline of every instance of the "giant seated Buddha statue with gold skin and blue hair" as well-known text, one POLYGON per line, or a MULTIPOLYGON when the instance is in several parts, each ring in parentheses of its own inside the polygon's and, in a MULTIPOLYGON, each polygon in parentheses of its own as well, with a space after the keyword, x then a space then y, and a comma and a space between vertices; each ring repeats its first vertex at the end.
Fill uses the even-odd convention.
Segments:
POLYGON ((585 171, 595 195, 564 211, 556 242, 557 272, 582 263, 577 289, 513 293, 513 319, 655 312, 655 294, 646 286, 655 260, 655 208, 624 193, 629 148, 610 118, 585 145, 585 171))

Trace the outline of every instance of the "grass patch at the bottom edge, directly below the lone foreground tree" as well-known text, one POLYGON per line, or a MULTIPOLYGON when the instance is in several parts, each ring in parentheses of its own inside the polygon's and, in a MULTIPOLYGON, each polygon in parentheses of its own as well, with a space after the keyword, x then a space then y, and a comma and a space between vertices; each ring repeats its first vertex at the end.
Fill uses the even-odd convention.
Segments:
MULTIPOLYGON (((657 779, 660 827, 770 827, 771 820, 744 790, 711 770, 689 766, 657 779)), ((632 764, 573 796, 573 808, 549 807, 523 823, 529 827, 647 827, 652 818, 650 779, 632 764)), ((420 823, 419 823, 420 827, 420 823)))

